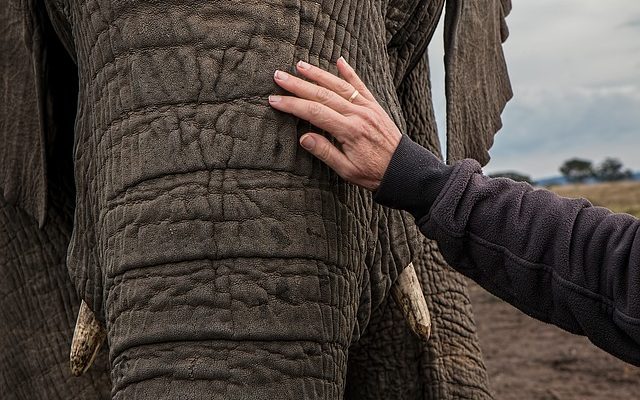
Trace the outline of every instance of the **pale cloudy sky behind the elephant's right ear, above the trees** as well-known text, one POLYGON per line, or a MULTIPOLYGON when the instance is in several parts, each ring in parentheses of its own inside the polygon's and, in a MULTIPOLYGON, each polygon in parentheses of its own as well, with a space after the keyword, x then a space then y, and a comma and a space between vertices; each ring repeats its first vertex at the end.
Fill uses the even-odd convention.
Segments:
MULTIPOLYGON (((514 1, 507 24, 514 98, 485 172, 539 179, 573 157, 614 157, 640 171, 640 1, 514 1)), ((441 133, 442 48, 439 27, 429 53, 441 133)))

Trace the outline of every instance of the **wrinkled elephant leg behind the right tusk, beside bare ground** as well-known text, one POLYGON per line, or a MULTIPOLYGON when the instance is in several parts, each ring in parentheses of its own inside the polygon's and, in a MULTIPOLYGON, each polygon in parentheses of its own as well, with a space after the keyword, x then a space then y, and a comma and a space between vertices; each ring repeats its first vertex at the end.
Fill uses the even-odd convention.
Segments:
POLYGON ((345 398, 491 399, 464 278, 434 242, 414 264, 432 318, 428 341, 408 327, 388 300, 349 350, 345 398))

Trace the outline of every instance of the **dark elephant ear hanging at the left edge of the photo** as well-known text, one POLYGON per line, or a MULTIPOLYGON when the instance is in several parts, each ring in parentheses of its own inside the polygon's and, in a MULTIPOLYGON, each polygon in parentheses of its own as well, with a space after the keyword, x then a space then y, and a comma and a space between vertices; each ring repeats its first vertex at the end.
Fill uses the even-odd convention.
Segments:
POLYGON ((28 2, 1 7, 0 189, 5 200, 44 223, 46 151, 44 133, 43 37, 28 2))

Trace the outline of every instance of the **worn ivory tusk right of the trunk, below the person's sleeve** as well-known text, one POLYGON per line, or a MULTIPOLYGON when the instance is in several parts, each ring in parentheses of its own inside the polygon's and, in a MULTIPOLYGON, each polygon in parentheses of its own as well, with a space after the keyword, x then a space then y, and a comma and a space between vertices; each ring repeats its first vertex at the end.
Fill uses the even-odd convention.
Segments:
POLYGON ((410 263, 398 276, 398 280, 391 288, 391 296, 402 309, 411 330, 419 337, 429 339, 431 315, 413 263, 410 263))

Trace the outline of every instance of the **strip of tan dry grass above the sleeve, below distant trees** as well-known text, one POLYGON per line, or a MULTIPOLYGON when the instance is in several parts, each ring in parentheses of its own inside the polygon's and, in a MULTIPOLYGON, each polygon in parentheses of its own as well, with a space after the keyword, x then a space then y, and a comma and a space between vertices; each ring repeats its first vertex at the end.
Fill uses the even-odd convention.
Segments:
POLYGON ((549 189, 560 196, 584 197, 595 205, 640 218, 640 181, 553 186, 549 189))

